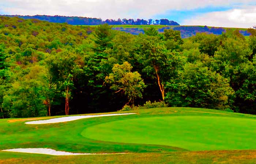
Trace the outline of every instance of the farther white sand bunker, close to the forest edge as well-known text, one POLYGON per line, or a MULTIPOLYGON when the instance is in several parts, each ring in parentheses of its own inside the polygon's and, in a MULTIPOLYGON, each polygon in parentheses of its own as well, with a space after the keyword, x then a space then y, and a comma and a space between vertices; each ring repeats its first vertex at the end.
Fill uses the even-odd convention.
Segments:
POLYGON ((88 116, 69 116, 69 117, 52 118, 52 119, 49 119, 49 120, 29 121, 29 122, 25 122, 25 124, 53 124, 53 123, 59 123, 59 122, 74 121, 74 120, 79 120, 79 119, 83 119, 83 118, 105 117, 105 116, 121 116, 121 115, 129 115, 129 114, 136 114, 136 113, 101 114, 101 115, 88 115, 88 116))

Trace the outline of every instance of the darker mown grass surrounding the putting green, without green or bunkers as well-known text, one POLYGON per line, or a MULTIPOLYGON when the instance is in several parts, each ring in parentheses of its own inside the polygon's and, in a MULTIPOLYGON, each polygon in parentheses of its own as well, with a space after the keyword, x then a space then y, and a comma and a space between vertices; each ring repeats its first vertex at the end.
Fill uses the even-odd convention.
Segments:
MULTIPOLYGON (((0 163, 31 163, 35 160, 35 163, 52 163, 50 161, 70 163, 68 161, 75 161, 80 163, 81 161, 99 161, 103 160, 106 163, 115 163, 117 161, 128 160, 135 163, 143 163, 143 158, 150 160, 152 163, 166 163, 170 160, 178 163, 186 163, 186 161, 195 159, 195 162, 202 161, 206 158, 206 161, 212 161, 213 159, 229 160, 228 155, 234 156, 234 159, 251 159, 255 162, 251 153, 255 151, 229 151, 229 152, 182 152, 184 149, 161 146, 161 145, 149 145, 149 144, 120 144, 118 142, 106 142, 91 140, 83 137, 81 132, 88 127, 110 122, 110 121, 122 121, 135 118, 148 118, 150 116, 162 117, 162 116, 209 116, 209 117, 225 117, 225 118, 248 118, 248 120, 255 120, 256 117, 252 115, 229 113, 217 110, 207 109, 195 109, 195 108, 158 108, 158 109, 144 109, 139 111, 131 111, 139 113, 138 115, 129 116, 113 116, 113 117, 98 117, 89 118, 84 120, 77 120, 72 122, 64 122, 59 124, 49 125, 26 125, 23 119, 4 119, 0 120, 0 149, 11 148, 53 148, 60 151, 70 152, 136 152, 136 154, 127 155, 93 155, 93 156, 79 156, 79 157, 53 157, 44 155, 32 155, 26 153, 11 153, 0 152, 0 163), (164 153, 146 153, 146 152, 159 152, 158 149, 163 149, 164 153), (173 151, 179 151, 172 153, 173 151), (145 153, 138 153, 145 152, 145 153), (202 154, 208 154, 204 157, 202 154), (183 156, 188 158, 183 159, 183 156), (236 157, 239 156, 239 157, 236 157), (48 159, 48 160, 47 160, 48 159), (64 160, 66 159, 66 160, 64 160), (25 161, 24 161, 25 160, 25 161)), ((253 125, 246 125, 253 126, 253 125)), ((249 136, 248 136, 249 137, 249 136)), ((232 138, 230 138, 232 140, 232 138)), ((255 153, 256 154, 256 153, 255 153)), ((255 155, 254 155, 255 157, 255 155)), ((218 160, 217 160, 218 161, 218 160)), ((97 162, 95 162, 97 163, 97 162)))

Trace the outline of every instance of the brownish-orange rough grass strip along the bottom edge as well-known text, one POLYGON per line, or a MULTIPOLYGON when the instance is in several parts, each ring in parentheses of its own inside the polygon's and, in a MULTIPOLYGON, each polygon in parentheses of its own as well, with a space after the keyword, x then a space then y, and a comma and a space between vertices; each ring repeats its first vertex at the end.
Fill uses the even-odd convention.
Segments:
POLYGON ((48 156, 0 152, 0 164, 255 164, 256 151, 188 151, 121 155, 48 156))

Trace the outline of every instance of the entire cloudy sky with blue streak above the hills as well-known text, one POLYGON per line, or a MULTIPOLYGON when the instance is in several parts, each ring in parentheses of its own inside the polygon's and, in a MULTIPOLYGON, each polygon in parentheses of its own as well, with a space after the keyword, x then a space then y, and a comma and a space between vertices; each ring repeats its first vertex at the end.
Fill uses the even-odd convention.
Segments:
POLYGON ((256 0, 0 0, 0 14, 174 20, 181 25, 250 28, 256 0))

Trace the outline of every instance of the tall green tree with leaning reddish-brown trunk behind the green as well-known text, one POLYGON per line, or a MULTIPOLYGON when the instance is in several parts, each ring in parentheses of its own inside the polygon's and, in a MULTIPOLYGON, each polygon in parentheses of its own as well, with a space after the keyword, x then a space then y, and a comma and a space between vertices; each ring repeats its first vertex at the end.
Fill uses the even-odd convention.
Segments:
POLYGON ((178 52, 170 52, 158 36, 140 35, 137 41, 138 61, 144 66, 143 71, 157 79, 162 100, 165 99, 165 83, 174 78, 176 71, 183 65, 178 52))

